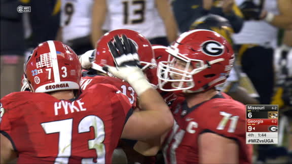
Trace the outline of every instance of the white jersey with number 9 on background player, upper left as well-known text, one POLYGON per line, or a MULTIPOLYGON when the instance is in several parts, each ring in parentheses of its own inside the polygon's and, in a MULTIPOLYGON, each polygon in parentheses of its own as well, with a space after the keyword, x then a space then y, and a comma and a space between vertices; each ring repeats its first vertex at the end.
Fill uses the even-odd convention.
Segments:
POLYGON ((61 1, 60 25, 64 43, 90 34, 93 3, 94 0, 61 1))

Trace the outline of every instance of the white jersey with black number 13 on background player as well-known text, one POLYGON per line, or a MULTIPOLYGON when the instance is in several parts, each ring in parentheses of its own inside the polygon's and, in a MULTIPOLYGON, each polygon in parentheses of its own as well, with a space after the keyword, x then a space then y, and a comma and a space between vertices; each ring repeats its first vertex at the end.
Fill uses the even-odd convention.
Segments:
POLYGON ((148 39, 166 36, 155 0, 107 0, 109 30, 135 30, 148 39))

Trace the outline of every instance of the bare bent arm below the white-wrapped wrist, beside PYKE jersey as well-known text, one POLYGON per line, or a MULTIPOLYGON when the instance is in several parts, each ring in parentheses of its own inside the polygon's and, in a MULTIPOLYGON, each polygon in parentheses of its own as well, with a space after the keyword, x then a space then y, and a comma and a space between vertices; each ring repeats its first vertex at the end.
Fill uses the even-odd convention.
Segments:
POLYGON ((149 88, 138 96, 142 110, 129 117, 122 138, 147 141, 167 132, 172 127, 173 117, 159 93, 149 88))

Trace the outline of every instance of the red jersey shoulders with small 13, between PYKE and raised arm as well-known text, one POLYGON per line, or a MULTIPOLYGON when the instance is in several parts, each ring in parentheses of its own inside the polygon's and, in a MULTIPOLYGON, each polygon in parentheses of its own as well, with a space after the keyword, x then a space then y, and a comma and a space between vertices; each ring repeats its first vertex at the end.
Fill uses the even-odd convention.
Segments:
POLYGON ((116 86, 129 99, 133 109, 136 107, 137 94, 134 89, 126 82, 116 77, 109 77, 103 75, 83 76, 81 78, 81 89, 86 90, 94 84, 111 84, 116 86))

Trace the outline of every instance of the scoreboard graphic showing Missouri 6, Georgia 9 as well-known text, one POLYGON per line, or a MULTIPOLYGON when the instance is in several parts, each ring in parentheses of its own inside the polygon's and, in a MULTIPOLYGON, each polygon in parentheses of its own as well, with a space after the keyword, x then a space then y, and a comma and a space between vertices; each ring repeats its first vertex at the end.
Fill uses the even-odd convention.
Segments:
POLYGON ((246 105, 246 144, 278 144, 278 105, 246 105))

